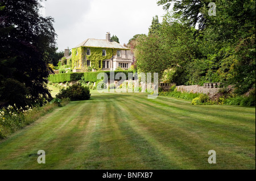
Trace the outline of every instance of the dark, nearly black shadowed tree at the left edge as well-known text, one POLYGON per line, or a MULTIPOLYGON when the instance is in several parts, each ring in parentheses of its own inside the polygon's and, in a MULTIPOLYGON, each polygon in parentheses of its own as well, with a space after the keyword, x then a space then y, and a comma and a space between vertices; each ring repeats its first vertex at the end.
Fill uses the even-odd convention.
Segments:
POLYGON ((2 0, 0 6, 0 104, 50 99, 47 65, 56 44, 53 18, 39 15, 37 0, 2 0), (17 92, 22 96, 15 96, 17 92))

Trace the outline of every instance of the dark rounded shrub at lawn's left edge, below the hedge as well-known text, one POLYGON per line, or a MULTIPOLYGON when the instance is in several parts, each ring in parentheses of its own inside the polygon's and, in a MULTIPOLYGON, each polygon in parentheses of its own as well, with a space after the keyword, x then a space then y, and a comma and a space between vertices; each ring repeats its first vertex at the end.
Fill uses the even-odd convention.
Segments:
POLYGON ((71 100, 88 100, 90 99, 90 90, 87 86, 73 85, 68 89, 63 89, 56 95, 58 99, 69 98, 71 100))

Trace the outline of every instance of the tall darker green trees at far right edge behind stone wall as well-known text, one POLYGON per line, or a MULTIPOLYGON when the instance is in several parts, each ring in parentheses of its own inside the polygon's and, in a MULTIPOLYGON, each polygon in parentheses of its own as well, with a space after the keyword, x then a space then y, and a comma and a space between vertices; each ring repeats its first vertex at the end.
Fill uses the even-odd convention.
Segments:
POLYGON ((188 62, 187 84, 220 81, 238 94, 255 88, 255 1, 217 0, 216 16, 208 14, 209 0, 159 0, 165 10, 199 27, 196 58, 188 62))

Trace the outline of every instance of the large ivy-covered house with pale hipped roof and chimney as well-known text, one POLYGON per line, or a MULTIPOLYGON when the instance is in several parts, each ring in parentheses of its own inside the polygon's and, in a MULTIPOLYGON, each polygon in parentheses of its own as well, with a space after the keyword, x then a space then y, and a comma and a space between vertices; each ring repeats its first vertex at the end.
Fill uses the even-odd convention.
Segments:
POLYGON ((105 40, 87 39, 72 48, 72 69, 80 70, 86 66, 93 71, 129 69, 133 62, 131 50, 110 39, 108 32, 105 40))

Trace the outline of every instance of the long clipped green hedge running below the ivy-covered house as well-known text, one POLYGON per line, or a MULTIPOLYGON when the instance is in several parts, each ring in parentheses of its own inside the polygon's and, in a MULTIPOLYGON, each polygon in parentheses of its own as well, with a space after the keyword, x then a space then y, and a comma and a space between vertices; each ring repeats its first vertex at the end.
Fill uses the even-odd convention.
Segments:
MULTIPOLYGON (((106 73, 110 77, 110 71, 96 71, 96 72, 85 72, 85 73, 65 73, 65 74, 52 74, 49 75, 49 82, 52 83, 61 83, 61 82, 72 82, 79 81, 82 76, 85 77, 86 82, 97 82, 98 73, 106 73)), ((128 73, 133 73, 133 71, 123 70, 115 71, 117 73, 125 73, 126 78, 128 78, 128 73)))

